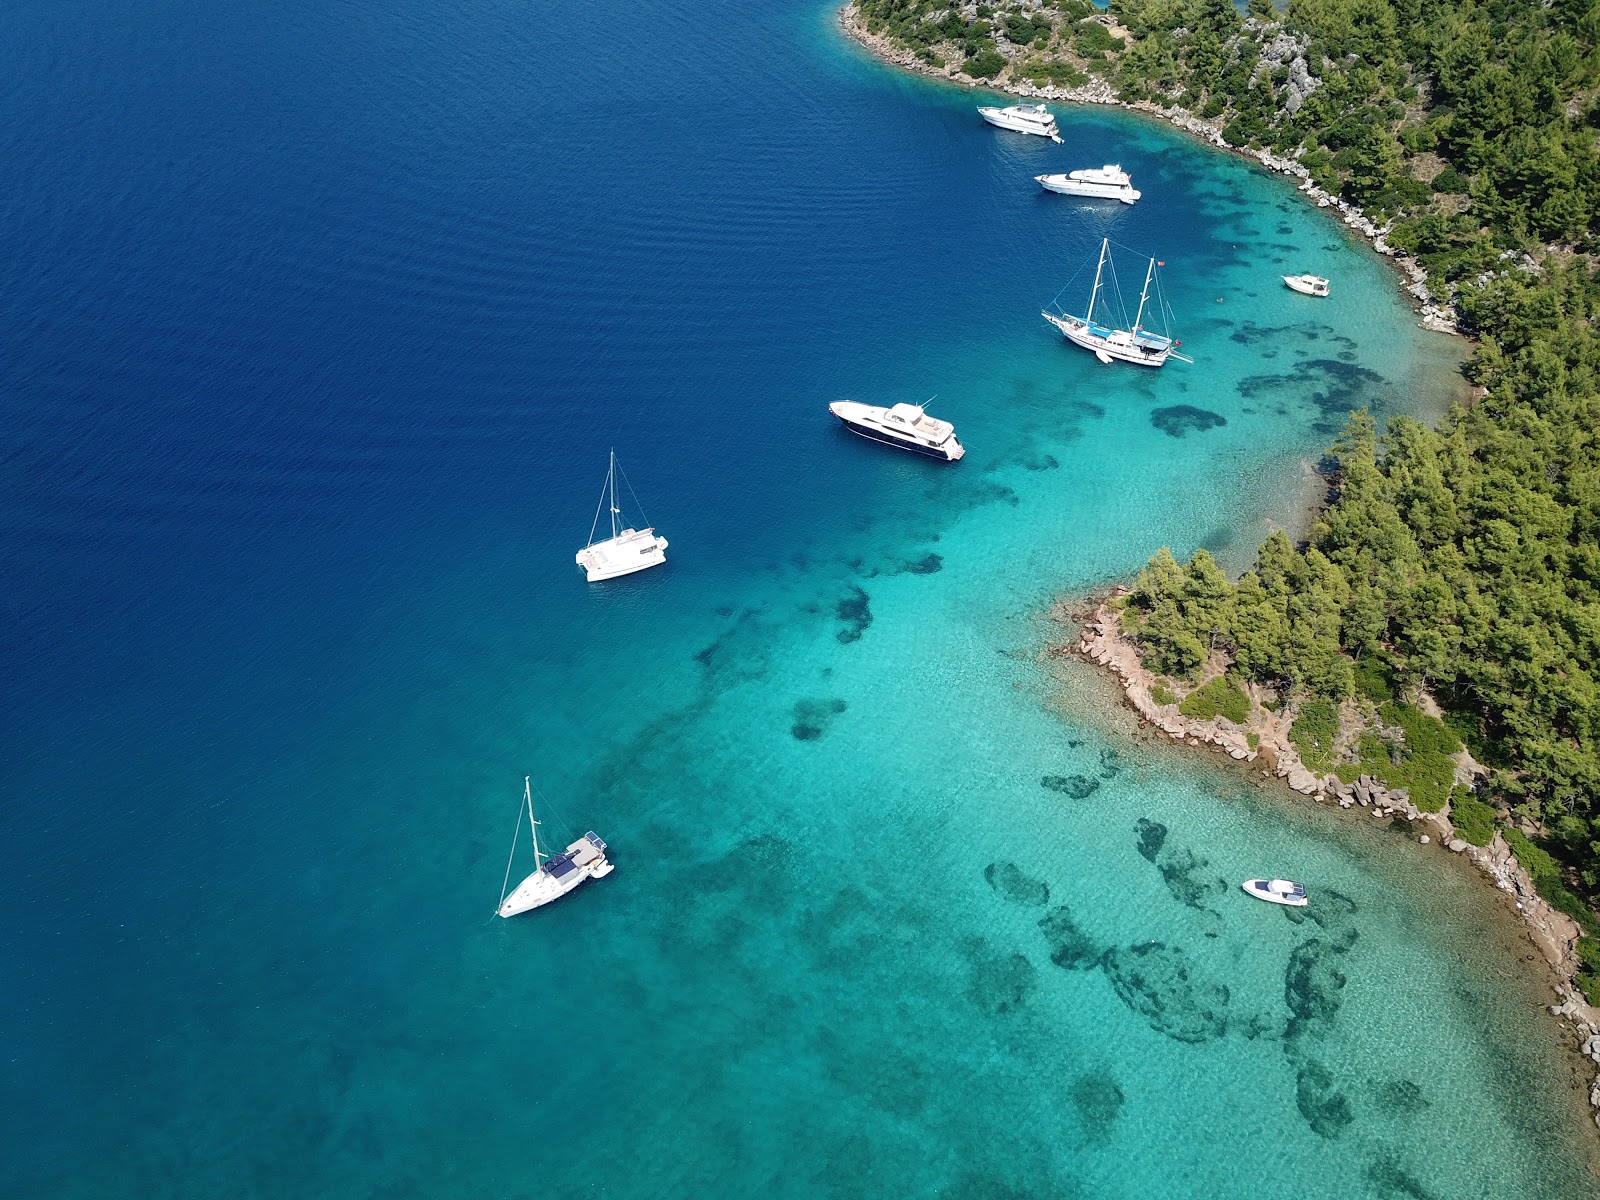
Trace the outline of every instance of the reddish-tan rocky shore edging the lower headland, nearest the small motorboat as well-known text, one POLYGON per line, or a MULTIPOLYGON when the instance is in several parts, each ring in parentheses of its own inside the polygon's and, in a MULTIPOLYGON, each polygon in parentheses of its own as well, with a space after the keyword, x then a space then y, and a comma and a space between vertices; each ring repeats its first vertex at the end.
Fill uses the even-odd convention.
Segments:
MULTIPOLYGON (((1318 803, 1352 811, 1365 810, 1373 819, 1405 821, 1419 845, 1437 845, 1445 853, 1470 859, 1515 904, 1528 936, 1549 963, 1554 989, 1560 998, 1560 1003, 1550 1005, 1550 1014, 1568 1022, 1579 1053, 1600 1066, 1600 1010, 1586 1003, 1570 982, 1578 968, 1576 942, 1582 931, 1571 917, 1550 907, 1538 894, 1533 878, 1499 832, 1488 846, 1474 846, 1458 835, 1450 821, 1448 805, 1442 813, 1422 813, 1403 789, 1387 790, 1370 776, 1346 784, 1334 774, 1320 776, 1307 770, 1288 736, 1291 718, 1259 704, 1251 704, 1253 715, 1246 725, 1235 725, 1226 717, 1208 720, 1186 717, 1176 704, 1158 702, 1152 694, 1157 675, 1141 661, 1138 645, 1122 634, 1110 605, 1126 594, 1126 587, 1117 587, 1077 606, 1059 603, 1051 619, 1075 629, 1077 638, 1051 646, 1050 653, 1077 656, 1110 672, 1139 720, 1173 741, 1194 747, 1210 746, 1235 760, 1240 768, 1282 779, 1291 790, 1318 803)), ((1466 750, 1461 752, 1458 778, 1462 782, 1482 770, 1466 750)), ((1600 1075, 1590 1083, 1589 1104, 1595 1110, 1595 1125, 1600 1125, 1600 1075)))

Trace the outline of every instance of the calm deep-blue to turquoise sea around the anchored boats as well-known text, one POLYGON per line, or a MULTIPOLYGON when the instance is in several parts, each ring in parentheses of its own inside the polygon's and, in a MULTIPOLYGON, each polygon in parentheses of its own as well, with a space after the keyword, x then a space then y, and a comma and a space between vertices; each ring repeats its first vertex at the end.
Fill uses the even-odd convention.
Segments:
POLYGON ((6 1195, 1594 1192, 1459 864, 1040 666, 1451 395, 1282 181, 818 0, 13 0, 0 98, 6 1195), (1101 237, 1194 366, 1038 318, 1101 237), (826 413, 931 394, 957 467, 826 413), (530 773, 618 870, 501 922, 530 773))

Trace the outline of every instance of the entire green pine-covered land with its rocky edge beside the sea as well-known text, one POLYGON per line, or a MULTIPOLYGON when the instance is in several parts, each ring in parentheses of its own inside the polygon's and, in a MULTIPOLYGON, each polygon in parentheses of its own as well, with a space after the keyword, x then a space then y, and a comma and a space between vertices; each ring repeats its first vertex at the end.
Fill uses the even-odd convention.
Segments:
MULTIPOLYGON (((1413 822, 1517 899, 1600 1062, 1600 21, 1475 0, 858 0, 922 74, 1158 115, 1299 178, 1475 339, 1437 429, 1350 418, 1306 541, 1078 611, 1141 717, 1413 822)), ((1600 1083, 1590 1101, 1600 1110, 1600 1083)), ((1600 1117, 1597 1117, 1600 1122, 1600 1117)))

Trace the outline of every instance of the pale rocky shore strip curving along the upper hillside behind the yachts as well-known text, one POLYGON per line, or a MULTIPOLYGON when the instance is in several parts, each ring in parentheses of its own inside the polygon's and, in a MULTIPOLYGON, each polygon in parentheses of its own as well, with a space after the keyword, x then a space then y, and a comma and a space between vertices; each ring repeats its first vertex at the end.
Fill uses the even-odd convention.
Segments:
POLYGON ((1110 104, 1118 109, 1126 109, 1128 112, 1139 112, 1147 117, 1155 117, 1158 120, 1168 122, 1170 125, 1176 125, 1184 133, 1205 139, 1219 150, 1240 154, 1246 158, 1259 162, 1270 171, 1277 171, 1278 174, 1288 174, 1294 179, 1299 179, 1301 181, 1299 190, 1306 195, 1307 200, 1314 202, 1318 208, 1336 210, 1339 213, 1339 219, 1346 226, 1349 226, 1363 238, 1366 238, 1371 243, 1373 250, 1376 250, 1384 258, 1389 258, 1395 264, 1395 269, 1403 277, 1411 280, 1405 290, 1413 299, 1418 315, 1421 317, 1418 323, 1424 330, 1434 330, 1437 333, 1456 333, 1456 334, 1461 333, 1454 312, 1434 301, 1432 293, 1429 291, 1427 286, 1427 272, 1422 269, 1422 266, 1416 259, 1400 253, 1384 240, 1384 235, 1389 232, 1389 226, 1374 224, 1355 205, 1317 187, 1317 184, 1312 182, 1310 171, 1294 158, 1283 158, 1280 155, 1272 154, 1270 150, 1251 150, 1248 147, 1230 146, 1222 138, 1222 130, 1216 122, 1203 120, 1200 117, 1195 117, 1192 112, 1187 112, 1176 106, 1171 109, 1162 109, 1155 104, 1150 104, 1149 101, 1138 101, 1133 104, 1120 101, 1117 99, 1117 94, 1112 91, 1110 85, 1102 78, 1091 78, 1088 83, 1078 88, 1058 88, 1054 85, 1046 85, 1040 88, 1034 86, 1032 83, 1019 83, 1014 80, 1006 83, 979 83, 976 80, 970 80, 960 75, 954 64, 944 67, 933 67, 923 62, 920 58, 917 58, 912 51, 896 46, 893 42, 890 42, 886 37, 882 37, 880 34, 870 32, 864 24, 861 24, 859 14, 853 3, 845 5, 843 8, 838 10, 838 24, 851 38, 854 38, 862 46, 870 50, 877 58, 896 67, 901 67, 902 70, 910 70, 917 75, 926 75, 930 78, 944 80, 947 83, 957 83, 966 88, 982 86, 990 91, 1003 91, 1010 96, 1024 96, 1027 99, 1062 101, 1066 104, 1110 104))

